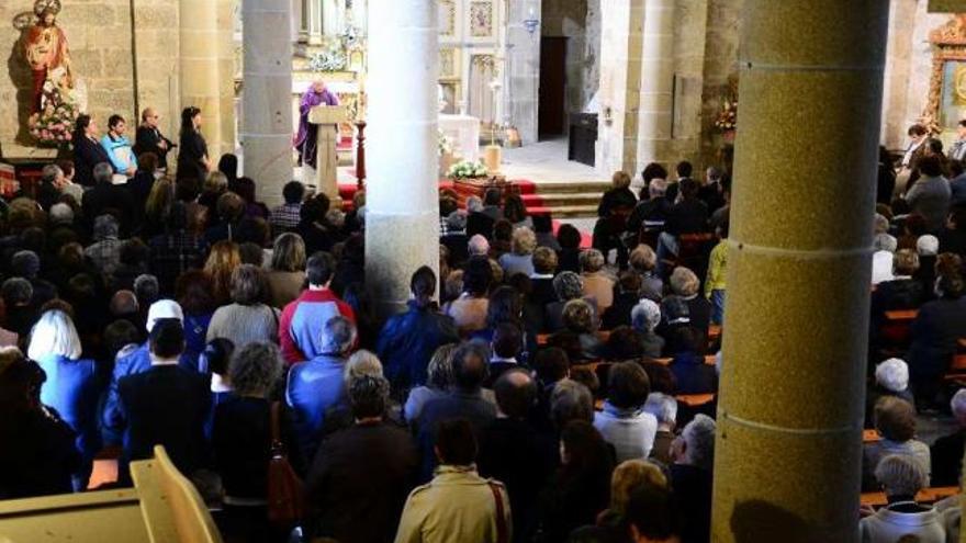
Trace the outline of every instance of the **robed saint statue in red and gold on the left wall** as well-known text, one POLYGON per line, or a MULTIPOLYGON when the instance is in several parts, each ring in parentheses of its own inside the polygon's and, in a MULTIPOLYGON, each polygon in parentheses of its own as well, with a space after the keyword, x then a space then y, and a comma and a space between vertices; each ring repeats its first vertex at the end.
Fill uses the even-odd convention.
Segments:
POLYGON ((67 36, 57 26, 58 13, 60 0, 37 0, 34 3, 37 20, 26 29, 24 36, 24 56, 33 72, 33 113, 41 112, 45 105, 45 83, 49 82, 48 91, 55 88, 61 94, 74 89, 67 36))

